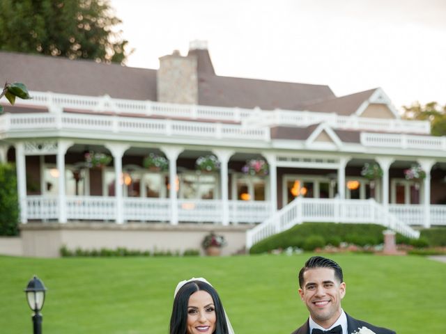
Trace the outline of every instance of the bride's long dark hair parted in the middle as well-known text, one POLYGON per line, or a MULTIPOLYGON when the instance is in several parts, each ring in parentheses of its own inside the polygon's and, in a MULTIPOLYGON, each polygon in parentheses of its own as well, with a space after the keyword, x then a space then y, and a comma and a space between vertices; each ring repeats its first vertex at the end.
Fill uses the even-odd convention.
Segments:
POLYGON ((170 334, 186 334, 187 324, 187 305, 189 304, 190 295, 197 291, 206 291, 212 297, 215 306, 215 331, 214 334, 228 334, 228 326, 226 325, 226 317, 224 316, 224 309, 222 301, 215 289, 207 283, 200 280, 192 280, 187 282, 178 290, 175 299, 174 307, 172 308, 172 315, 170 317, 170 334))

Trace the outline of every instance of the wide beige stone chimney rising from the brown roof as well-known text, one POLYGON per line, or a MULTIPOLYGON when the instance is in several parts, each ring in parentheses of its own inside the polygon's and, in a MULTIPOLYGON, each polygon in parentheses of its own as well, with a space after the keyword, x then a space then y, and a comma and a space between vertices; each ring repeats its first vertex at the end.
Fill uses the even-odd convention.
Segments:
POLYGON ((198 104, 197 57, 178 50, 160 58, 157 71, 158 102, 198 104))

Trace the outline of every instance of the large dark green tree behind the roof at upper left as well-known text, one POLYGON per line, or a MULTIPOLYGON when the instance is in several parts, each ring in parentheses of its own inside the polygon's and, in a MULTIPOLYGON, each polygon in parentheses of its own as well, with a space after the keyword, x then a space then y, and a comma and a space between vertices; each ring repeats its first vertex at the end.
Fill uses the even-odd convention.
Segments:
POLYGON ((123 63, 108 0, 1 0, 0 50, 123 63))

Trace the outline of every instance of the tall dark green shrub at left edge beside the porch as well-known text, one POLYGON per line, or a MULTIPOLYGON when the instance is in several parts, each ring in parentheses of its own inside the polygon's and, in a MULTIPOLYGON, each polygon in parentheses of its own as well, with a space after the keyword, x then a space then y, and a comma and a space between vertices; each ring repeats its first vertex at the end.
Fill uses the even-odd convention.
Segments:
POLYGON ((0 164, 0 235, 19 234, 19 200, 15 166, 0 164))

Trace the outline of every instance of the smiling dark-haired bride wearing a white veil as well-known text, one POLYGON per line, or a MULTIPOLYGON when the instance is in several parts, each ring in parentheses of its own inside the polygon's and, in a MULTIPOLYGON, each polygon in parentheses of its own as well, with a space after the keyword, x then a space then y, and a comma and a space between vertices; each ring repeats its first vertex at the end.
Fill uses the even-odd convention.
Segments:
POLYGON ((176 286, 170 334, 234 334, 222 301, 204 278, 183 280, 176 286))

